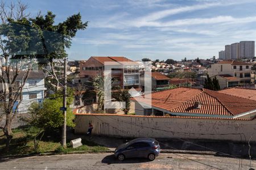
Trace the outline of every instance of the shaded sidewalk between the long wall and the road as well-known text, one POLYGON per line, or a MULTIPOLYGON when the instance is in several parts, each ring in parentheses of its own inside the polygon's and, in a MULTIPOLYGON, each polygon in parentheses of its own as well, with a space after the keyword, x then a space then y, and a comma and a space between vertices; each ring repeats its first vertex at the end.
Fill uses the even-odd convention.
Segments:
MULTIPOLYGON (((93 136, 90 141, 103 145, 114 151, 122 143, 131 139, 120 139, 103 136, 93 136)), ((230 156, 233 158, 249 159, 249 146, 246 143, 234 143, 228 141, 188 141, 179 139, 157 139, 160 142, 161 152, 180 153, 180 154, 200 154, 200 155, 218 155, 230 156)), ((256 159, 256 144, 250 144, 251 159, 256 159)))

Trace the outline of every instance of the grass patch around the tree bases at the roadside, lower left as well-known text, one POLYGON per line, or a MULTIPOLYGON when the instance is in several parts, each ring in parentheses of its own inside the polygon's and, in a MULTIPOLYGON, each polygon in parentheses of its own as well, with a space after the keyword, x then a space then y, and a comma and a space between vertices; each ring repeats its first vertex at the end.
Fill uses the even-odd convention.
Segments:
MULTIPOLYGON (((5 137, 0 137, 0 156, 5 155, 26 155, 26 154, 35 154, 34 151, 34 137, 40 130, 33 126, 26 126, 22 128, 13 129, 13 139, 10 143, 10 149, 7 153, 5 151, 5 137)), ((109 149, 104 146, 98 146, 96 143, 86 141, 82 139, 82 146, 77 148, 72 148, 72 146, 67 143, 67 148, 63 148, 60 145, 60 134, 58 131, 46 132, 42 141, 39 142, 39 153, 45 152, 74 152, 74 151, 88 151, 88 152, 100 152, 108 151, 109 149)), ((0 131, 0 135, 3 134, 3 131, 0 131)), ((71 139, 67 138, 67 142, 71 139)))

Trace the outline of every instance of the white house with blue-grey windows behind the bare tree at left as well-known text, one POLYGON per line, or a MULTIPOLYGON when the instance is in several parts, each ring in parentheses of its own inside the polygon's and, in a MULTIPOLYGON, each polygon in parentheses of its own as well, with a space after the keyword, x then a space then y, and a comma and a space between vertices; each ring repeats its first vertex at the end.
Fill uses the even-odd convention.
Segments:
MULTIPOLYGON (((24 71, 21 71, 16 79, 16 85, 19 87, 21 86, 22 79, 24 78, 24 75, 26 73, 24 71)), ((3 74, 3 78, 5 78, 5 74, 3 74)), ((15 108, 17 104, 19 103, 20 99, 22 99, 22 102, 20 103, 18 107, 19 113, 26 113, 28 111, 28 107, 33 102, 41 103, 44 99, 44 78, 45 74, 42 70, 38 71, 31 71, 28 75, 27 81, 24 84, 22 95, 19 97, 19 99, 15 102, 13 110, 15 111, 15 108)), ((3 84, 1 83, 0 90, 2 91, 4 86, 8 86, 7 83, 3 84)))

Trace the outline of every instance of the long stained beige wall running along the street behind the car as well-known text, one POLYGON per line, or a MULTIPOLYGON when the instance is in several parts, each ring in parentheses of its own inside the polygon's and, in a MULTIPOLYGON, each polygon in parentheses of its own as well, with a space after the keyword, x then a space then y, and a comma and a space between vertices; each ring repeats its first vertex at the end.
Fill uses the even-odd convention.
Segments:
POLYGON ((118 116, 76 114, 75 133, 86 133, 92 122, 93 134, 112 137, 152 137, 256 142, 255 120, 118 116))

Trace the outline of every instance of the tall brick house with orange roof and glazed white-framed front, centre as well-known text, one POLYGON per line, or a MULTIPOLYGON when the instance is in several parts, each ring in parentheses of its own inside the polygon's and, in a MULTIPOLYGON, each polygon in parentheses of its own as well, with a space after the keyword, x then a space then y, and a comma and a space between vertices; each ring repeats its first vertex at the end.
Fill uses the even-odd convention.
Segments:
POLYGON ((112 69, 112 86, 129 90, 135 88, 133 96, 141 94, 139 64, 126 57, 90 57, 80 63, 80 78, 91 80, 94 76, 105 76, 105 63, 115 62, 118 68, 112 69))

